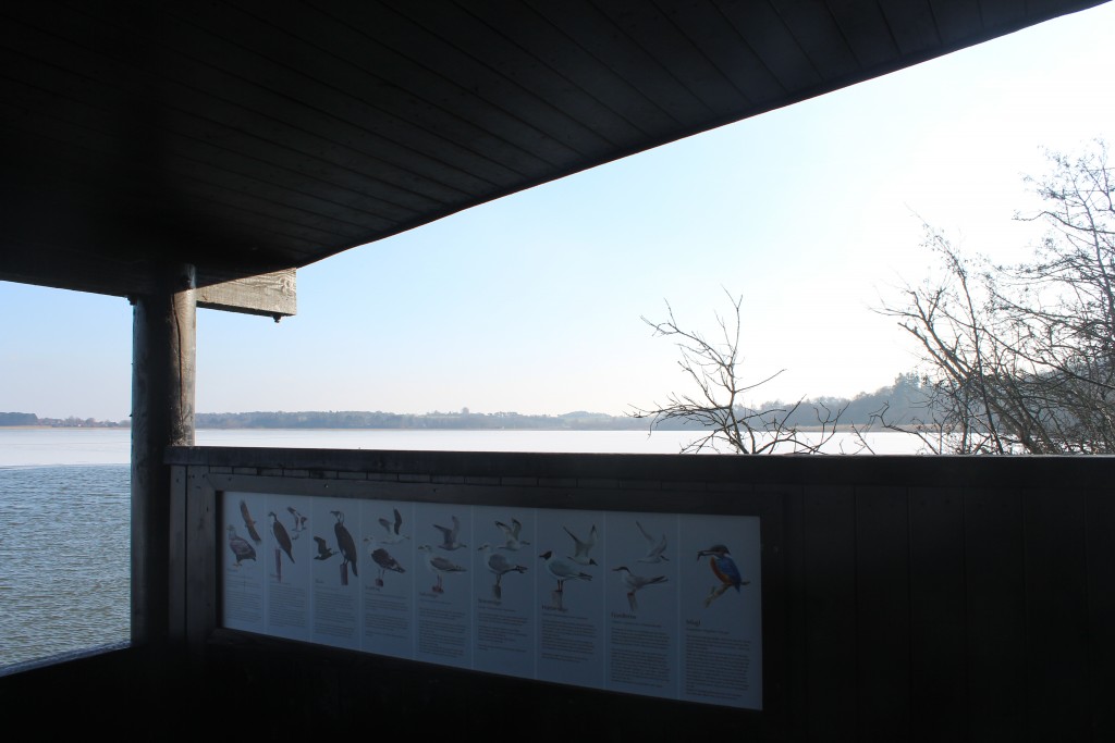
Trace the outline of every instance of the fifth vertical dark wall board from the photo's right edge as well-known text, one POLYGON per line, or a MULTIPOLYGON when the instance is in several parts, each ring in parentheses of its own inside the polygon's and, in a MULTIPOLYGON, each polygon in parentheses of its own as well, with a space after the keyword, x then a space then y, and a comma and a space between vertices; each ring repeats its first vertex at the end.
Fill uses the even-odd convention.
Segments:
POLYGON ((855 491, 861 741, 909 735, 909 516, 903 488, 855 491))

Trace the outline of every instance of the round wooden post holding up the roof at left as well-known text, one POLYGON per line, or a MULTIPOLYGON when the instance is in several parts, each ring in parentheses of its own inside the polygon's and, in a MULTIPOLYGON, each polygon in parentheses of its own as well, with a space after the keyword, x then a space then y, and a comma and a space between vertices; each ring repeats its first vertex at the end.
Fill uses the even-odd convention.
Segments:
POLYGON ((196 273, 168 266, 133 297, 132 643, 162 647, 169 625, 171 446, 194 444, 196 273))

